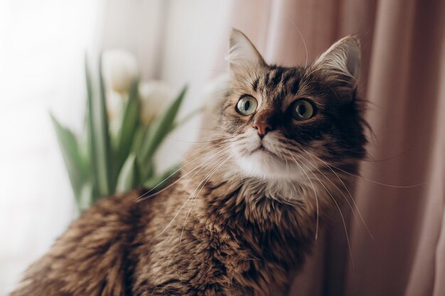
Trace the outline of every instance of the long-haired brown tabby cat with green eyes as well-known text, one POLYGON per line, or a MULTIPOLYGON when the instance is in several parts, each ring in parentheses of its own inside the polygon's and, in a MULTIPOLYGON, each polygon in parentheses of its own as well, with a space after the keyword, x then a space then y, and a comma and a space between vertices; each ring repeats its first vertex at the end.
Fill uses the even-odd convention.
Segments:
POLYGON ((360 46, 280 67, 233 30, 227 60, 176 180, 97 202, 11 296, 286 295, 365 156, 360 46))

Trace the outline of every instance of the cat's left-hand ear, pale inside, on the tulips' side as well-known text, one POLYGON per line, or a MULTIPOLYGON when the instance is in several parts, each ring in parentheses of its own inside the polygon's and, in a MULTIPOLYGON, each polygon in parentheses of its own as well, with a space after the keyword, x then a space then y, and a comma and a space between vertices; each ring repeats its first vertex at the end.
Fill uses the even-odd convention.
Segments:
POLYGON ((229 61, 230 70, 235 73, 266 65, 249 38, 237 29, 232 29, 230 34, 229 55, 226 59, 229 61))

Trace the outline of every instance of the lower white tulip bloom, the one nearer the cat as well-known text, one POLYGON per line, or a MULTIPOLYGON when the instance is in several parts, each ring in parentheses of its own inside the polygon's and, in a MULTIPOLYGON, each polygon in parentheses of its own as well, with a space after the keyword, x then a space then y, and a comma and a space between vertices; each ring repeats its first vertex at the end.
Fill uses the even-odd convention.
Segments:
POLYGON ((173 100, 173 94, 166 82, 151 80, 139 84, 141 97, 141 121, 150 124, 173 100))

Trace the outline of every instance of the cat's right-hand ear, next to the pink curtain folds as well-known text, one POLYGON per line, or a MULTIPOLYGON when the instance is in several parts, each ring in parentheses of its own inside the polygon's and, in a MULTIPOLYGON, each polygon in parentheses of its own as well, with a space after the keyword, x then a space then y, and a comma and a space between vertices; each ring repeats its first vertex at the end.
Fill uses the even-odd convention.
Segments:
POLYGON ((360 75, 360 43, 354 35, 334 43, 313 63, 318 71, 337 92, 352 98, 360 75))

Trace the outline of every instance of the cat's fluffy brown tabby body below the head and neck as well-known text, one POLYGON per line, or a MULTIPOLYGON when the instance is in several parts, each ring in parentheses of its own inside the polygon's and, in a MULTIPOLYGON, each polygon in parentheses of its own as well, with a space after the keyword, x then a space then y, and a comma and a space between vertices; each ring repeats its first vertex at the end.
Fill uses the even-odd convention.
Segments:
POLYGON ((239 182, 208 183, 186 202, 193 190, 178 186, 141 202, 134 202, 137 192, 98 202, 28 270, 31 277, 13 295, 284 295, 315 229, 280 229, 313 221, 292 221, 294 208, 269 198, 261 200, 268 203, 264 212, 245 219, 249 206, 237 204, 239 182), (275 220, 277 211, 288 221, 275 220))

